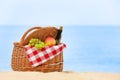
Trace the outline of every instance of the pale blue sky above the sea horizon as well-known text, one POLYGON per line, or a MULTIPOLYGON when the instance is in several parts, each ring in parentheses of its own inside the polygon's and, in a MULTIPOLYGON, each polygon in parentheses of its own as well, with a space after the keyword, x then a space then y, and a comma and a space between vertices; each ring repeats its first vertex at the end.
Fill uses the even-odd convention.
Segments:
POLYGON ((0 25, 120 25, 119 0, 0 0, 0 25))

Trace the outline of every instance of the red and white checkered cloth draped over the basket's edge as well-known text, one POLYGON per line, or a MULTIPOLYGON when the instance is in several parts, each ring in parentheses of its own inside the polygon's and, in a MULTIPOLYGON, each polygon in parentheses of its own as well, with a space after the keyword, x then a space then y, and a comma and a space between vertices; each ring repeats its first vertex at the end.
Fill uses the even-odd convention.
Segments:
POLYGON ((46 46, 40 50, 28 45, 26 45, 24 48, 32 67, 36 67, 59 55, 65 47, 66 45, 61 43, 55 46, 46 46))

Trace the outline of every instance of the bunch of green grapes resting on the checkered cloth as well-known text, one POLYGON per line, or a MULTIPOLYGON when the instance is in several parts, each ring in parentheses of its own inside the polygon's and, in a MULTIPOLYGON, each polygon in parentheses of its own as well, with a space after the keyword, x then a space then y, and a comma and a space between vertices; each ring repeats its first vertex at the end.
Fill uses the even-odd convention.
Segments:
POLYGON ((44 48, 45 46, 47 46, 44 42, 42 42, 41 40, 37 39, 37 38, 32 38, 30 41, 29 41, 29 46, 34 46, 35 48, 37 49, 42 49, 44 48))

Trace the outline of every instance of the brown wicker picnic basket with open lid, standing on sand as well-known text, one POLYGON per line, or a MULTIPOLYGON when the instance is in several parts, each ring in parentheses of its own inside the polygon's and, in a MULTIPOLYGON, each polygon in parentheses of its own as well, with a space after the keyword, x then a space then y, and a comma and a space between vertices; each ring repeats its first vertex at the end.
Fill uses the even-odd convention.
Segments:
POLYGON ((11 60, 12 69, 14 71, 61 72, 63 70, 63 52, 44 64, 33 68, 29 63, 24 49, 24 46, 29 43, 31 38, 39 38, 42 41, 48 36, 56 38, 58 30, 62 30, 62 27, 60 29, 55 27, 33 27, 27 30, 20 42, 14 42, 11 60))

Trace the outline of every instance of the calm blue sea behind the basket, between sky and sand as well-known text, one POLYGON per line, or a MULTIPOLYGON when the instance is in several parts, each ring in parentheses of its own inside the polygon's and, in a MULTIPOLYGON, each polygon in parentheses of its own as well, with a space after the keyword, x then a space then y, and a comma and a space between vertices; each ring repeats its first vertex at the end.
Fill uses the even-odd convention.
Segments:
MULTIPOLYGON (((12 71, 13 42, 31 25, 0 26, 0 71, 12 71)), ((64 71, 120 73, 120 27, 63 26, 64 71)))

